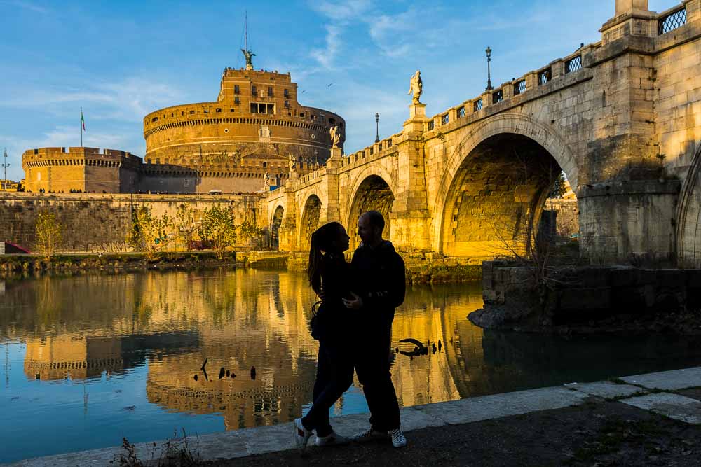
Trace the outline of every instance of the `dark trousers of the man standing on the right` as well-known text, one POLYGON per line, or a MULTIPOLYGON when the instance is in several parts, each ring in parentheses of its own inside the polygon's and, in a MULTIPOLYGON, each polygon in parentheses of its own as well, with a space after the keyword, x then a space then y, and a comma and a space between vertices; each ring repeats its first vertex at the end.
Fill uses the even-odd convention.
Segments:
POLYGON ((376 431, 400 426, 399 403, 390 374, 391 333, 390 328, 386 333, 369 336, 355 355, 355 372, 370 409, 370 425, 376 431))

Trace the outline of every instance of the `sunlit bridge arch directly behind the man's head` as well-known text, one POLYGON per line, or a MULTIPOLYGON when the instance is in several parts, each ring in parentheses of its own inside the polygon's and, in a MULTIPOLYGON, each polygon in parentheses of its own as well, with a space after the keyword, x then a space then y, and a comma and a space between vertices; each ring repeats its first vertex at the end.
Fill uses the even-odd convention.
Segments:
POLYGON ((355 187, 351 198, 350 209, 346 216, 346 226, 348 236, 351 237, 351 251, 360 244, 358 232, 358 217, 366 211, 380 211, 385 218, 385 228, 382 236, 386 239, 392 238, 392 225, 390 213, 394 204, 395 195, 390 184, 382 176, 376 174, 366 174, 355 187))

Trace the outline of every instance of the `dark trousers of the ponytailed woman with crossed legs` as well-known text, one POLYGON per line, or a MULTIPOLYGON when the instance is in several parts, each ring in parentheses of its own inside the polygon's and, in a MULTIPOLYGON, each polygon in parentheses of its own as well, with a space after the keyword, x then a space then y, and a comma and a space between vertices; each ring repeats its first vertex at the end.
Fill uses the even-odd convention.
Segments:
POLYGON ((353 384, 353 361, 347 352, 347 349, 333 342, 326 340, 319 342, 314 403, 311 410, 302 417, 304 427, 315 430, 317 436, 331 434, 329 409, 353 384))

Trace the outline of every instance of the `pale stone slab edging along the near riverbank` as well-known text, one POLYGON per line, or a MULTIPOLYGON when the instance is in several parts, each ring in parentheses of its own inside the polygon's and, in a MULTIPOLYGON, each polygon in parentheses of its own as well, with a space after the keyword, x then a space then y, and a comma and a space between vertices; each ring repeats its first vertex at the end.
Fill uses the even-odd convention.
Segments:
MULTIPOLYGON (((402 408, 402 429, 410 433, 440 426, 465 426, 503 417, 582 406, 592 400, 617 400, 630 407, 661 414, 686 424, 697 425, 701 424, 701 401, 684 396, 679 391, 698 387, 701 387, 701 367, 634 375, 615 381, 568 384, 417 405, 402 408)), ((333 419, 333 424, 339 433, 352 434, 367 427, 367 414, 336 417, 333 419)), ((408 438, 411 443, 411 436, 408 438)), ((153 442, 136 445, 135 454, 139 459, 149 459, 149 457, 153 458, 155 452, 158 457, 162 444, 163 442, 156 442, 158 449, 154 449, 153 442)), ((293 448, 290 423, 213 433, 200 436, 198 440, 201 461, 237 459, 254 454, 283 452, 293 448)), ((28 459, 12 465, 105 466, 124 453, 122 447, 111 447, 28 459)), ((698 455, 695 454, 695 461, 698 461, 698 455)), ((118 462, 115 463, 118 464, 118 462)))

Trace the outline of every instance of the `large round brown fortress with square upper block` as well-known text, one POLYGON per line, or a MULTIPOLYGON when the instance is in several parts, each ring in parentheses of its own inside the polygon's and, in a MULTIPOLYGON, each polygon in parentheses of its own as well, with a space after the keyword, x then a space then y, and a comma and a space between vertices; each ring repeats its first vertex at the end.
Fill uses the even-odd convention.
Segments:
MULTIPOLYGON (((140 186, 170 192, 254 192, 294 167, 304 175, 329 158, 335 113, 301 106, 290 74, 224 69, 215 102, 166 107, 144 117, 140 186)), ((341 143, 343 137, 341 137, 341 143)))

